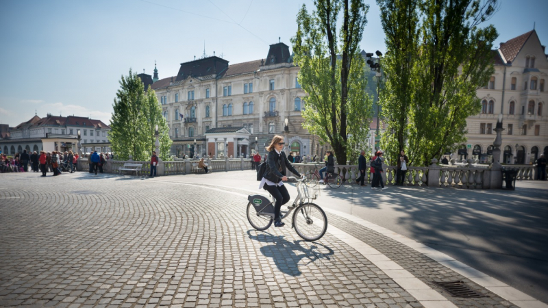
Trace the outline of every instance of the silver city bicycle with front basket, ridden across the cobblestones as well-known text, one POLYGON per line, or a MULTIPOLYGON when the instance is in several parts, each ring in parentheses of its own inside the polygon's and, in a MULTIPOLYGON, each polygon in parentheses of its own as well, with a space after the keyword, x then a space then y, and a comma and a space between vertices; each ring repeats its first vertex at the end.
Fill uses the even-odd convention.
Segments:
MULTIPOLYGON (((319 240, 327 231, 327 216, 319 205, 310 201, 314 200, 319 194, 317 185, 306 185, 306 178, 297 179, 288 177, 288 179, 297 180, 297 197, 292 205, 288 206, 288 211, 280 218, 282 220, 289 216, 295 210, 291 218, 291 227, 303 240, 313 242, 319 240)), ((275 200, 269 200, 266 196, 260 194, 247 196, 247 220, 251 227, 258 231, 269 229, 274 221, 275 200)))

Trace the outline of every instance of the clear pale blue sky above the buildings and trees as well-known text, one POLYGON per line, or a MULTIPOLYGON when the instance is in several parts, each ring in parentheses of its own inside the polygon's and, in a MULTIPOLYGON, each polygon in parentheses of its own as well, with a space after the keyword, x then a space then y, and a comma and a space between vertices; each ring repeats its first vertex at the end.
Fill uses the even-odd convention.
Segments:
MULTIPOLYGON (((160 78, 179 64, 208 55, 230 63, 266 57, 269 44, 290 45, 295 16, 311 0, 0 0, 0 123, 10 126, 34 116, 90 116, 105 123, 121 75, 129 68, 160 78)), ((384 52, 384 33, 375 1, 360 44, 384 52)), ((548 44, 548 1, 502 0, 487 23, 505 42, 533 28, 548 44)))

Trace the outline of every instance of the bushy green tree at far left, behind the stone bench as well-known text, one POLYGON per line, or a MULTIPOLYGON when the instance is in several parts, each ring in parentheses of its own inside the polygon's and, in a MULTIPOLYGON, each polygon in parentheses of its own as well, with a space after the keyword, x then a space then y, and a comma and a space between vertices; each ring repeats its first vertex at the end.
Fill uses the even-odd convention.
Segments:
POLYGON ((137 161, 148 160, 154 149, 155 125, 162 137, 158 154, 162 159, 167 158, 171 140, 158 99, 153 90, 145 92, 141 79, 131 69, 128 76, 121 77, 112 108, 108 139, 119 159, 129 159, 132 155, 137 161))

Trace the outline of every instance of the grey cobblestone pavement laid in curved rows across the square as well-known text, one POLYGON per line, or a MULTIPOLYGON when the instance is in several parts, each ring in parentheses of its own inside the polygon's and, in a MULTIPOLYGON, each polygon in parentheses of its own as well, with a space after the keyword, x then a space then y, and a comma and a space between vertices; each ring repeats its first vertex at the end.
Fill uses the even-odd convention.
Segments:
MULTIPOLYGON (((1 175, 0 306, 422 307, 329 228, 314 243, 288 226, 258 232, 244 196, 161 179, 1 175)), ((400 242, 327 216, 458 307, 515 307, 400 242), (452 298, 432 284, 452 280, 486 297, 452 298)))

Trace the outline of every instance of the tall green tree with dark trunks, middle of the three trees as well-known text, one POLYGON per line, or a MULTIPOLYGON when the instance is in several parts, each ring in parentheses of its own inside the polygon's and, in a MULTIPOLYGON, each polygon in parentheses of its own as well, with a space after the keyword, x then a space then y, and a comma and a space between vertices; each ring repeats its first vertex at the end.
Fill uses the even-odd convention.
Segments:
POLYGON ((369 6, 362 0, 316 0, 309 14, 297 14, 297 34, 291 39, 304 99, 303 127, 333 147, 338 164, 356 160, 371 122, 366 94, 362 40, 369 6), (350 3, 349 3, 350 2, 350 3), (341 12, 342 11, 342 12, 341 12), (337 18, 343 15, 342 29, 337 18))

